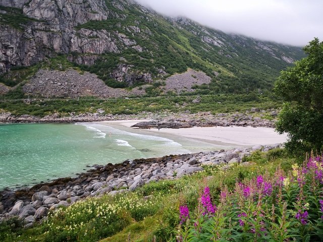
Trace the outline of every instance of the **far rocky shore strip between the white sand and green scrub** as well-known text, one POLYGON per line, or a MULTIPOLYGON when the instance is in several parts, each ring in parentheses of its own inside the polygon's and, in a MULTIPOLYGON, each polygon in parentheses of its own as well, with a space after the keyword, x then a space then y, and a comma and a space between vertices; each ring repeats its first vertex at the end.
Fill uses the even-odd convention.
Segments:
POLYGON ((199 113, 168 113, 168 112, 142 112, 139 114, 104 114, 104 110, 97 109, 95 113, 72 112, 70 116, 60 117, 58 113, 46 115, 44 117, 30 116, 23 114, 21 116, 12 115, 10 112, 0 113, 0 124, 16 123, 78 123, 78 122, 100 122, 111 120, 135 120, 152 119, 151 122, 138 123, 133 127, 141 129, 149 128, 191 128, 191 127, 213 127, 213 126, 251 126, 275 128, 277 119, 265 119, 265 117, 276 117, 278 111, 274 109, 259 110, 251 108, 246 113, 218 113, 211 112, 199 113))

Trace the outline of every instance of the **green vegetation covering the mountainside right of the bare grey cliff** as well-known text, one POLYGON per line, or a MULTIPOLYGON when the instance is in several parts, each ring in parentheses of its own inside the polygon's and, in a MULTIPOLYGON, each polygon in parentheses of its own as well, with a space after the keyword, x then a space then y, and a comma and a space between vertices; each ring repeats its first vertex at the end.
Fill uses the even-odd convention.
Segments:
MULTIPOLYGON (((251 39, 244 39, 242 45, 240 40, 236 42, 222 32, 205 28, 207 33, 204 33, 201 32, 201 26, 194 23, 185 25, 180 22, 170 22, 164 17, 150 15, 136 5, 128 6, 121 2, 119 4, 123 6, 123 10, 106 1, 107 8, 123 18, 91 20, 76 28, 77 30, 81 28, 106 30, 119 41, 118 48, 123 49, 120 53, 106 53, 101 55, 92 66, 79 66, 84 71, 95 73, 111 87, 127 85, 120 86, 120 83, 110 77, 112 70, 119 64, 132 65, 133 71, 137 73, 150 73, 154 80, 165 78, 158 76, 158 69, 169 75, 183 73, 187 68, 203 71, 212 78, 208 88, 203 90, 203 94, 271 90, 279 72, 291 66, 260 50, 251 39), (139 28, 140 32, 134 31, 133 28, 139 28), (121 34, 133 41, 132 47, 140 45, 143 51, 138 52, 129 47, 124 49, 120 43, 121 34), (207 44, 203 36, 207 38, 217 36, 226 42, 226 48, 219 44, 207 44), (259 52, 255 52, 255 49, 259 52), (121 57, 122 61, 120 61, 121 57)), ((273 45, 273 43, 267 44, 273 45)), ((278 54, 281 54, 280 51, 287 51, 284 48, 284 46, 275 46, 275 49, 279 49, 278 54)), ((290 47, 288 51, 296 58, 303 57, 296 47, 290 47)), ((77 53, 73 54, 77 55, 77 53)), ((75 66, 78 65, 75 64, 75 66)))

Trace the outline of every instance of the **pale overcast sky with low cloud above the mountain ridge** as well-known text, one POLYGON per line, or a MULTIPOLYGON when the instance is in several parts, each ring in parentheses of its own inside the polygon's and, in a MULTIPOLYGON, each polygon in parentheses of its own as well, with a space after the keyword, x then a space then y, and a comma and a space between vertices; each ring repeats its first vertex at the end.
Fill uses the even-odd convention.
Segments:
POLYGON ((262 40, 305 46, 323 41, 323 0, 136 0, 171 17, 262 40))

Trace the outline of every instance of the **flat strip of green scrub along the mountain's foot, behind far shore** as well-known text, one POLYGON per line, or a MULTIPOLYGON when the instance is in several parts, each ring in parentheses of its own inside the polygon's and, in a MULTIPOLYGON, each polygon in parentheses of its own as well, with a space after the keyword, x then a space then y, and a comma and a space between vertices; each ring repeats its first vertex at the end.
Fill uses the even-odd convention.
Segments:
MULTIPOLYGON (((0 111, 11 112, 13 115, 29 114, 44 116, 58 113, 60 116, 69 115, 71 112, 95 113, 98 108, 105 110, 105 114, 139 114, 145 112, 174 112, 190 111, 197 113, 201 111, 220 112, 245 112, 251 107, 261 109, 279 108, 282 105, 273 95, 249 94, 227 94, 227 95, 203 95, 199 96, 199 103, 192 102, 197 96, 163 96, 163 97, 140 97, 140 98, 117 98, 98 99, 33 99, 27 100, 27 96, 20 88, 12 90, 4 98, 24 98, 23 100, 7 100, 1 102, 0 111)), ((269 117, 268 117, 269 118, 269 117)))

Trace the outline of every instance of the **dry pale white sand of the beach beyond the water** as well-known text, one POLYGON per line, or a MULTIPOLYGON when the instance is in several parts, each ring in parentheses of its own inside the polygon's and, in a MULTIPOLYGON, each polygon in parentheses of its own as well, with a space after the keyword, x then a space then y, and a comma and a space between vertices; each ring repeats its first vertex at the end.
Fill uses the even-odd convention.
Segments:
MULTIPOLYGON (((124 127, 131 127, 139 122, 148 120, 116 120, 104 121, 100 123, 120 125, 124 127)), ((193 127, 187 129, 150 129, 145 130, 152 133, 170 134, 181 137, 201 141, 215 141, 226 144, 235 144, 242 146, 252 145, 273 145, 284 143, 287 139, 287 134, 279 135, 272 128, 253 128, 253 127, 193 127)))

